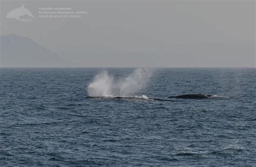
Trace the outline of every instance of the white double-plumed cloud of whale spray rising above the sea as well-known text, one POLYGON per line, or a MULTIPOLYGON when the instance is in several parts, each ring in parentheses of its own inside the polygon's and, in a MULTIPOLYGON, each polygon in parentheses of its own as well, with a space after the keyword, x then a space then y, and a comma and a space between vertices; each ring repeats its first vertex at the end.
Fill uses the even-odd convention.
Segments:
POLYGON ((90 96, 132 96, 146 87, 152 71, 149 68, 137 68, 126 78, 114 80, 107 71, 95 76, 87 87, 90 96))

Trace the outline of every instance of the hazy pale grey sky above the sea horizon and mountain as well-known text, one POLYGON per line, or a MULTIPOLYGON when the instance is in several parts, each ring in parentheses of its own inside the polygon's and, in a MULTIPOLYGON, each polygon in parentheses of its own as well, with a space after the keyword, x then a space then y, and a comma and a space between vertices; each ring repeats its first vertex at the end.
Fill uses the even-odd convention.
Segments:
POLYGON ((1 35, 84 67, 255 67, 255 1, 1 1, 1 35), (35 19, 5 18, 25 3, 35 19), (38 8, 86 11, 39 18, 38 8))

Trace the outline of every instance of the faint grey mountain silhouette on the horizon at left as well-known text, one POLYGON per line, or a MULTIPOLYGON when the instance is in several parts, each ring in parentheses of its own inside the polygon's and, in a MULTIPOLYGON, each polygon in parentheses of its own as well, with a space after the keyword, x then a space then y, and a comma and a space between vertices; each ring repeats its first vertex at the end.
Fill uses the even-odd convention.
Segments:
POLYGON ((0 67, 66 67, 68 63, 30 38, 1 36, 0 67))

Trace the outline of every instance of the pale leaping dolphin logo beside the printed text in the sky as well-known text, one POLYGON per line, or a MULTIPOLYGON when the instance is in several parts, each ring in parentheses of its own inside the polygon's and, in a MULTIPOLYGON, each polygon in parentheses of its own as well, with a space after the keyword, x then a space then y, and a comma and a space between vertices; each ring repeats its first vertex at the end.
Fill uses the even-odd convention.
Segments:
POLYGON ((33 17, 32 13, 26 9, 24 7, 25 4, 23 4, 21 6, 21 8, 17 8, 17 9, 14 9, 12 11, 10 11, 7 15, 6 15, 6 18, 15 18, 19 21, 22 21, 21 18, 19 17, 22 17, 22 16, 25 16, 25 15, 28 15, 29 17, 32 17, 35 19, 35 17, 33 17))

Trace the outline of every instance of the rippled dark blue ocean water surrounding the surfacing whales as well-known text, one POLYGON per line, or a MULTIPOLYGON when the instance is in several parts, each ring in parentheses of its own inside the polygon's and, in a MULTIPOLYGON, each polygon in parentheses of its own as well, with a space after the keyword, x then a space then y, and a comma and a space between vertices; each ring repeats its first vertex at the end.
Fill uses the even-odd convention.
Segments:
POLYGON ((141 72, 1 68, 0 165, 255 166, 255 68, 141 72))

